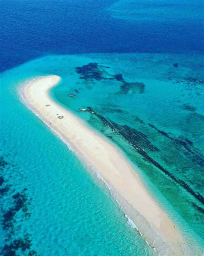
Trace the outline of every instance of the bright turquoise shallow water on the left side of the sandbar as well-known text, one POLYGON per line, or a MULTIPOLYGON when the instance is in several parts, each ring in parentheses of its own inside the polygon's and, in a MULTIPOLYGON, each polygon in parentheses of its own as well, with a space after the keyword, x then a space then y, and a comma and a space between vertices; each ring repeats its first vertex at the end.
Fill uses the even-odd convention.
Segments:
POLYGON ((1 75, 1 254, 152 255, 106 186, 19 100, 44 64, 1 75))

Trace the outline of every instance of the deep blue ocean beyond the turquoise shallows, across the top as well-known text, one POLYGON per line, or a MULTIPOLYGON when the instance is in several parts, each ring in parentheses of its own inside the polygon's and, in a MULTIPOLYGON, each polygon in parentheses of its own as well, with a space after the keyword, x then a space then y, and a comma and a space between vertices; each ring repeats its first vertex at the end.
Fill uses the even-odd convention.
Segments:
POLYGON ((201 0, 120 1, 108 10, 115 2, 1 0, 1 70, 47 54, 203 51, 201 0))

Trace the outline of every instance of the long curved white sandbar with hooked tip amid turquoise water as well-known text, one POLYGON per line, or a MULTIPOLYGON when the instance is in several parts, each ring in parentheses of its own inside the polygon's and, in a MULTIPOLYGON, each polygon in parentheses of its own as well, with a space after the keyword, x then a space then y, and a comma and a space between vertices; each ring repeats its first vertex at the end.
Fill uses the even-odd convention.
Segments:
POLYGON ((133 220, 151 247, 160 255, 188 255, 185 240, 148 194, 136 174, 137 170, 133 170, 135 167, 122 152, 51 99, 49 89, 59 81, 60 77, 54 75, 38 77, 24 86, 22 96, 50 128, 99 171, 124 213, 133 220), (50 106, 46 107, 46 104, 50 106), (57 113, 64 118, 57 118, 57 113))

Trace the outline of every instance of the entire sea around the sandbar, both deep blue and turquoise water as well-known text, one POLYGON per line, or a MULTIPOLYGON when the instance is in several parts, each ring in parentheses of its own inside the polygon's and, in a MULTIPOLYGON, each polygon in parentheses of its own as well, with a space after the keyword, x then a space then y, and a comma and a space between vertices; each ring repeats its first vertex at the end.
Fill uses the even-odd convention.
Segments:
POLYGON ((202 255, 203 11, 201 0, 0 1, 0 255, 157 255, 22 104, 20 85, 46 74, 62 77, 52 91, 62 106, 140 167, 202 255))

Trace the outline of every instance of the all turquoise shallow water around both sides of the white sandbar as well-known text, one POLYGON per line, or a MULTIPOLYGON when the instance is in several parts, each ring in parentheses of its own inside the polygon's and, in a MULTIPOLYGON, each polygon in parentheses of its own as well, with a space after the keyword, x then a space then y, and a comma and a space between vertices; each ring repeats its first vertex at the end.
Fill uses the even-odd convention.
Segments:
POLYGON ((203 247, 201 66, 196 54, 84 54, 47 56, 2 73, 3 250, 154 253, 105 185, 20 102, 20 84, 46 74, 62 77, 52 96, 121 147, 190 246, 203 247), (68 97, 74 89, 80 93, 68 97))

